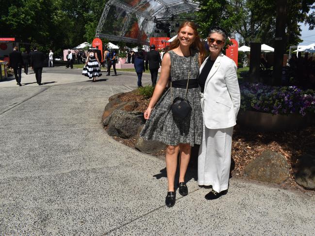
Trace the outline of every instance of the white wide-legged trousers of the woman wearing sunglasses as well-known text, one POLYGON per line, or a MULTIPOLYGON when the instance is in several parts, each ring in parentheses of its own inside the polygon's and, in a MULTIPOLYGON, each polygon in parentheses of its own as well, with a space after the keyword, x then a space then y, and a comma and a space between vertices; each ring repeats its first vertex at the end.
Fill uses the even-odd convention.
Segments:
MULTIPOLYGON (((201 99, 201 103, 202 103, 201 99)), ((203 111, 203 104, 201 104, 203 111)), ((209 129, 203 124, 198 156, 198 184, 216 192, 229 188, 233 126, 209 129)))

